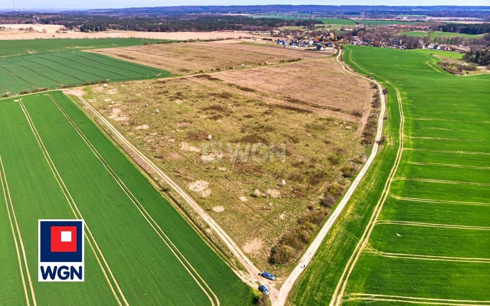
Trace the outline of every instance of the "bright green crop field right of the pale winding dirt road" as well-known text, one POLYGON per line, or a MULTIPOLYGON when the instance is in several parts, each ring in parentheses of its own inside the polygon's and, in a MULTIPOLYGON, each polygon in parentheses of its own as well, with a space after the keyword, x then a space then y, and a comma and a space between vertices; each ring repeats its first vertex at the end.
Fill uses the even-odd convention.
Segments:
POLYGON ((344 60, 388 89, 387 141, 290 301, 486 303, 490 75, 458 77, 426 52, 346 46, 344 60))

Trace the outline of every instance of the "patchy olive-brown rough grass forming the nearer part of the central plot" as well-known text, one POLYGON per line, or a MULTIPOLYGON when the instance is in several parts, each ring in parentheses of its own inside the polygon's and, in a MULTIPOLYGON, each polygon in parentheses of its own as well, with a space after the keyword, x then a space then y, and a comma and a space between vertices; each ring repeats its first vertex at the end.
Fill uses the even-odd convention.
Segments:
POLYGON ((263 243, 254 244, 251 255, 266 264, 271 247, 308 206, 318 205, 326 185, 348 184, 341 168, 365 152, 355 132, 359 123, 278 107, 193 80, 113 83, 103 90, 91 86, 87 99, 113 117, 112 123, 239 245, 259 237, 263 243), (231 160, 228 143, 235 150, 259 142, 279 153, 284 146, 284 158, 231 160), (223 150, 211 149, 219 143, 223 150), (209 184, 197 190, 193 186, 199 182, 209 184))

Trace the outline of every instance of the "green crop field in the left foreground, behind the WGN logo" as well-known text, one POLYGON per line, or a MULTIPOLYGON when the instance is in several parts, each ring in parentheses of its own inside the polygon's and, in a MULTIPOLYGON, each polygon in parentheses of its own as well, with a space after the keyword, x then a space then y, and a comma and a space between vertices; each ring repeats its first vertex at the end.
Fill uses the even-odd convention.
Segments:
POLYGON ((0 99, 0 139, 0 304, 252 301, 251 289, 60 91, 0 99), (80 218, 85 282, 37 282, 38 219, 80 218))

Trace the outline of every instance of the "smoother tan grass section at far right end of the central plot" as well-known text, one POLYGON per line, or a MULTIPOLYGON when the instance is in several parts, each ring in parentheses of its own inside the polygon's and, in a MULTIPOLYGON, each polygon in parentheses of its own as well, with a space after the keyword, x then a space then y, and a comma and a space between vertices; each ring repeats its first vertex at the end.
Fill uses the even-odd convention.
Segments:
POLYGON ((373 94, 360 78, 342 71, 335 59, 262 67, 243 71, 227 71, 213 77, 238 86, 275 94, 292 103, 360 117, 369 114, 366 104, 373 94))

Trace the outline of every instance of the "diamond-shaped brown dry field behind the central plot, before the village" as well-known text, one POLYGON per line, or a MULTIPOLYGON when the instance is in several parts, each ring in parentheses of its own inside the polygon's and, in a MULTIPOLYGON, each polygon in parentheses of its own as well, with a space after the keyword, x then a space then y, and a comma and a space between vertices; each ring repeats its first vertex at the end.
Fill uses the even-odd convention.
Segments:
POLYGON ((158 67, 172 73, 188 74, 197 71, 220 70, 282 60, 312 59, 329 53, 304 50, 257 47, 216 42, 153 44, 124 48, 91 50, 123 60, 158 67))

